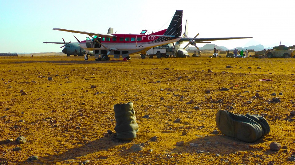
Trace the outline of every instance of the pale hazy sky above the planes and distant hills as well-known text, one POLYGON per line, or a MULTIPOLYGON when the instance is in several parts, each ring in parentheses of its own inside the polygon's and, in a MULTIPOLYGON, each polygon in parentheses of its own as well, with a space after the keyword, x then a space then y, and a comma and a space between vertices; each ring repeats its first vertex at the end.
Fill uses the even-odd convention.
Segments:
MULTIPOLYGON (((294 0, 0 0, 0 53, 61 52, 60 44, 87 35, 55 31, 64 28, 95 33, 139 34, 168 28, 175 10, 189 20, 189 37, 248 37, 212 41, 229 49, 262 44, 295 44, 294 0)), ((204 44, 197 44, 204 46, 204 44)))

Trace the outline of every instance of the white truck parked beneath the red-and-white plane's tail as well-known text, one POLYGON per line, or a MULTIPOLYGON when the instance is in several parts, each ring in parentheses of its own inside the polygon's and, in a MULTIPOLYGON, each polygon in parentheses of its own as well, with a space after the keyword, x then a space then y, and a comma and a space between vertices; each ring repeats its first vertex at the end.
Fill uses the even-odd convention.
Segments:
POLYGON ((148 58, 153 58, 154 56, 157 56, 157 58, 168 58, 169 56, 174 55, 174 46, 167 46, 167 45, 162 45, 162 46, 157 46, 153 47, 150 50, 141 53, 140 57, 144 59, 145 57, 148 58))

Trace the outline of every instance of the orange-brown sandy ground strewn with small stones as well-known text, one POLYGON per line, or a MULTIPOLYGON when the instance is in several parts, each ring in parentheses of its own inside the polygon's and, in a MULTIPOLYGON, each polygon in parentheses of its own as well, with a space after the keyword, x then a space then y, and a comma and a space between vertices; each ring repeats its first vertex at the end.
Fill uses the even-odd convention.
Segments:
POLYGON ((0 140, 15 140, 22 135, 27 142, 2 144, 0 161, 10 164, 79 164, 85 160, 90 160, 88 164, 292 164, 288 157, 295 154, 295 121, 287 119, 292 119, 290 112, 295 106, 294 63, 295 59, 208 58, 206 54, 161 59, 141 59, 135 55, 129 61, 95 61, 94 57, 85 61, 83 57, 64 56, 1 57, 0 140), (233 68, 226 68, 227 65, 233 68), (47 79, 49 76, 53 81, 47 79), (183 78, 178 80, 180 76, 183 78), (258 81, 263 78, 273 81, 258 81), (97 88, 90 88, 91 85, 97 88), (222 87, 234 89, 221 91, 222 87), (20 90, 25 90, 27 95, 21 95, 20 90), (206 90, 211 93, 206 94, 206 90), (260 98, 252 98, 257 93, 255 90, 260 91, 260 98), (278 95, 280 92, 283 95, 278 95), (277 96, 271 96, 272 93, 277 96), (179 101, 181 96, 183 101, 179 101), (270 102, 273 97, 281 102, 270 102), (191 100, 194 103, 186 104, 191 100), (129 101, 134 105, 139 132, 136 139, 122 141, 114 131, 113 105, 129 101), (200 109, 194 109, 195 106, 200 109), (213 135, 217 129, 216 112, 230 106, 233 113, 264 114, 270 133, 254 143, 220 132, 213 135), (142 118, 144 115, 151 119, 142 118), (52 119, 46 119, 49 117, 52 119), (181 122, 175 123, 178 118, 181 122), (21 119, 25 122, 19 122, 21 119), (114 133, 107 134, 107 130, 114 133), (187 134, 182 135, 183 132, 187 134), (158 140, 151 141, 153 136, 158 140), (184 145, 177 146, 178 141, 184 141, 184 145), (273 141, 287 149, 271 151, 269 144, 273 141), (130 149, 138 143, 144 143, 143 150, 130 149), (13 151, 15 147, 22 150, 13 151), (39 159, 27 161, 30 156, 39 159))

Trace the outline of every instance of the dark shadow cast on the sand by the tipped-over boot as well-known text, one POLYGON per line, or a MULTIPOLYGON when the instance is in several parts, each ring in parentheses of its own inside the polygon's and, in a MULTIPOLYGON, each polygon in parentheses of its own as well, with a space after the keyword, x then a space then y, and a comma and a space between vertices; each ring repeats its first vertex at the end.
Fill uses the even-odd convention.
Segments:
MULTIPOLYGON (((199 136, 199 135, 196 135, 199 136)), ((194 140, 185 142, 185 147, 175 146, 177 152, 188 153, 215 153, 215 154, 232 154, 241 151, 261 151, 262 148, 252 148, 251 145, 256 145, 263 142, 262 139, 258 139, 253 143, 247 143, 240 141, 236 138, 232 138, 225 135, 209 135, 194 140)), ((175 151, 174 151, 175 152, 175 151)))

